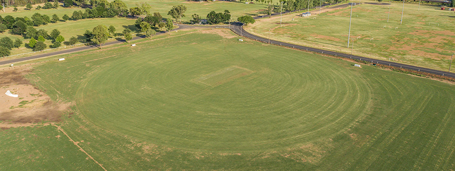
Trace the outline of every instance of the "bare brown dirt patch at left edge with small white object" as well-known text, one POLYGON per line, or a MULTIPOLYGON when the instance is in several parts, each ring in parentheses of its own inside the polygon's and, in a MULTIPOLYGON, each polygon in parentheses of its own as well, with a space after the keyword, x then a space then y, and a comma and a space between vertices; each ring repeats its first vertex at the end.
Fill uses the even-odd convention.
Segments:
MULTIPOLYGON (((60 121, 63 111, 70 104, 55 103, 49 96, 35 88, 23 75, 30 71, 15 69, 0 72, 0 120, 3 124, 27 126, 41 121, 60 121), (10 97, 11 91, 19 97, 10 97)), ((4 127, 11 127, 4 126, 4 127)))

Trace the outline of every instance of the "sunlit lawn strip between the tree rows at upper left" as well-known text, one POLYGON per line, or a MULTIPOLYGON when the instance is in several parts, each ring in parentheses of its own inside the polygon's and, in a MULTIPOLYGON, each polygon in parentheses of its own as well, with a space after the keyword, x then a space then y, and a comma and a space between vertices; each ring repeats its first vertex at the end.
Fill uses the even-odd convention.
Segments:
MULTIPOLYGON (((138 33, 139 29, 134 26, 134 19, 128 19, 128 18, 95 18, 95 19, 83 19, 83 20, 77 20, 77 21, 60 21, 57 23, 49 23, 47 25, 41 25, 39 27, 35 27, 36 29, 44 29, 48 31, 48 34, 51 34, 51 31, 53 29, 58 29, 60 31, 60 35, 62 35, 65 38, 65 41, 69 40, 70 37, 75 36, 79 39, 80 42, 77 44, 80 44, 81 42, 85 42, 85 37, 83 36, 83 33, 85 30, 90 30, 92 31, 94 27, 98 25, 105 25, 106 27, 109 27, 110 25, 114 26, 116 29, 116 33, 121 33, 123 29, 129 28, 133 31, 133 33, 138 33)), ((25 39, 23 36, 20 35, 13 35, 9 32, 4 32, 0 33, 0 37, 10 37, 11 39, 16 39, 19 38, 22 40, 24 44, 18 49, 18 48, 13 48, 11 50, 11 55, 16 55, 16 54, 23 54, 27 52, 33 52, 32 48, 29 48, 26 44, 30 39, 25 39)), ((52 45, 51 39, 46 39, 44 43, 48 45, 47 49, 51 49, 52 45)), ((62 47, 65 45, 62 44, 62 47)))

